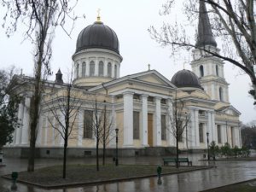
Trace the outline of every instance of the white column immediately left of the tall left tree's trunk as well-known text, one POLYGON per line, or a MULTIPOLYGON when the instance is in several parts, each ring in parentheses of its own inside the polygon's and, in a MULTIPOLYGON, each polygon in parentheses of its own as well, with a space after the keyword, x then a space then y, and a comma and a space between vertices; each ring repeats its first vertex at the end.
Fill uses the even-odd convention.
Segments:
POLYGON ((23 126, 22 126, 22 136, 21 136, 21 144, 28 144, 28 128, 30 125, 30 97, 26 96, 25 98, 25 106, 24 106, 24 116, 23 116, 23 126))

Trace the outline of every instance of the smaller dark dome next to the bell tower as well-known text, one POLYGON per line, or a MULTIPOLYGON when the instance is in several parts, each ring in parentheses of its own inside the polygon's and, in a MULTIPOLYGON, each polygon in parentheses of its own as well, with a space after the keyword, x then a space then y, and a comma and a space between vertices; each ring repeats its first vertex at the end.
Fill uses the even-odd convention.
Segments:
POLYGON ((172 84, 175 84, 179 88, 195 87, 202 89, 196 74, 186 69, 180 70, 173 75, 172 84))

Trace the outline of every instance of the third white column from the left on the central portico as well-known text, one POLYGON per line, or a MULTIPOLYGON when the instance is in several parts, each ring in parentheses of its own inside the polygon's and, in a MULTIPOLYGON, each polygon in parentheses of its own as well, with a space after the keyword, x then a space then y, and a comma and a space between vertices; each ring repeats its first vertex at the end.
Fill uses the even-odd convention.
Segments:
POLYGON ((161 98, 154 97, 155 111, 154 111, 154 145, 161 146, 161 98))

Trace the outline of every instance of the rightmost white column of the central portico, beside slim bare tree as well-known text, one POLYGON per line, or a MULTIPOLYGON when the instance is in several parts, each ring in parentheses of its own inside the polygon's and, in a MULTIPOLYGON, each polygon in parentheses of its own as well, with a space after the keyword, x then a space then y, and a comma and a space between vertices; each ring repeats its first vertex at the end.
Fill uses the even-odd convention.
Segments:
POLYGON ((167 115, 166 115, 166 120, 167 120, 167 143, 168 146, 175 146, 175 137, 173 137, 173 131, 172 131, 172 119, 173 119, 173 112, 172 112, 172 100, 168 99, 167 100, 167 115))

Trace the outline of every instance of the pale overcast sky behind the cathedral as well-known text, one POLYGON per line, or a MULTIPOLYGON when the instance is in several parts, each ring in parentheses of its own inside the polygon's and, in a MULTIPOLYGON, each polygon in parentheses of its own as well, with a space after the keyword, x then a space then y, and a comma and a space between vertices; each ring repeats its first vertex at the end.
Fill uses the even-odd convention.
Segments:
MULTIPOLYGON (((71 38, 60 29, 55 31, 51 61, 54 76, 51 79, 55 78, 58 68, 61 68, 64 76, 67 68, 71 68, 71 57, 76 49, 79 32, 96 21, 97 9, 101 9, 102 22, 110 26, 118 35, 120 55, 123 56, 121 76, 146 71, 148 63, 151 69, 157 70, 167 79, 172 79, 174 73, 183 69, 184 62, 185 68, 190 70, 191 55, 184 57, 183 53, 180 53, 174 59, 170 56, 170 49, 161 48, 149 36, 149 26, 161 26, 163 20, 173 22, 176 19, 184 19, 180 7, 177 7, 174 16, 161 17, 159 10, 164 2, 165 0, 80 0, 75 13, 85 15, 85 20, 80 19, 76 22, 71 38)), ((1 8, 0 16, 2 19, 1 8)), ((19 32, 7 38, 1 28, 0 69, 15 65, 22 68, 26 75, 32 75, 32 44, 23 41, 22 32, 20 27, 19 32)), ((230 103, 241 112, 241 121, 247 123, 256 119, 253 99, 247 94, 250 84, 247 75, 239 75, 239 70, 230 63, 224 65, 224 74, 227 82, 230 83, 230 103)))

